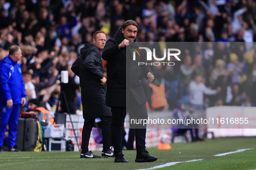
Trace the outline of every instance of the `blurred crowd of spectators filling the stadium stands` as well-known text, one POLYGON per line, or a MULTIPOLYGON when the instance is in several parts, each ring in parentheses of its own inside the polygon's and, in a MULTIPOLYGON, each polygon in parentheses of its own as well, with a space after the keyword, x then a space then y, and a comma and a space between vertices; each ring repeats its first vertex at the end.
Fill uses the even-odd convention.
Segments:
POLYGON ((172 110, 178 99, 191 103, 195 75, 217 89, 204 94, 206 107, 256 105, 256 46, 246 43, 256 38, 255 0, 0 0, 0 57, 10 45, 21 47, 27 101, 46 101, 49 110, 55 110, 60 72, 68 70, 62 88, 76 113, 79 78, 72 63, 95 31, 111 38, 127 19, 138 23, 139 41, 160 42, 154 46, 160 50, 178 42, 184 51, 175 66, 152 66, 155 85, 165 86, 168 107, 161 109, 172 110))

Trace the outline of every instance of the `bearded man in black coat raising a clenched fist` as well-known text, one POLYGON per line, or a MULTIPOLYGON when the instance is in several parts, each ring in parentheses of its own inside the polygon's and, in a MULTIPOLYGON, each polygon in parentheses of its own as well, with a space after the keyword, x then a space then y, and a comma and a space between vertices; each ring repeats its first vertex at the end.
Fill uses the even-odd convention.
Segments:
MULTIPOLYGON (((139 80, 142 77, 153 82, 155 77, 149 66, 138 66, 132 57, 126 56, 129 42, 139 42, 136 38, 138 25, 133 20, 127 20, 110 38, 103 49, 102 58, 107 60, 107 93, 106 104, 111 107, 112 124, 111 137, 114 148, 114 162, 128 162, 122 152, 122 126, 126 116, 126 106, 133 115, 147 119, 146 96, 139 80)), ((146 60, 142 55, 136 62, 146 60)), ((145 61, 144 61, 145 62, 145 61)), ((130 115, 131 117, 131 115, 130 115)), ((136 162, 153 162, 157 157, 151 156, 146 150, 146 126, 136 128, 136 162)))

